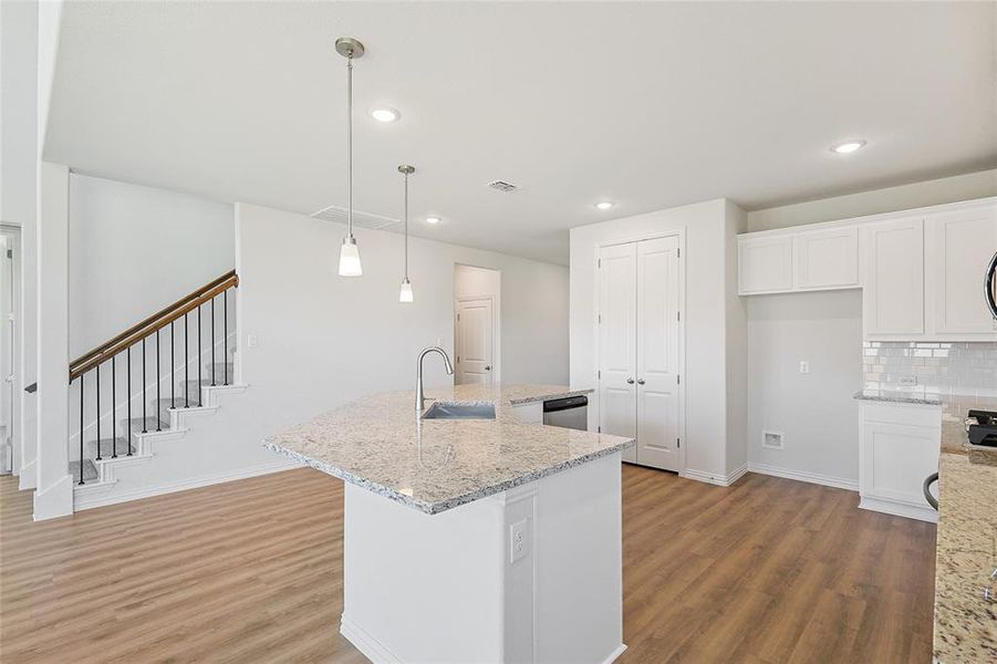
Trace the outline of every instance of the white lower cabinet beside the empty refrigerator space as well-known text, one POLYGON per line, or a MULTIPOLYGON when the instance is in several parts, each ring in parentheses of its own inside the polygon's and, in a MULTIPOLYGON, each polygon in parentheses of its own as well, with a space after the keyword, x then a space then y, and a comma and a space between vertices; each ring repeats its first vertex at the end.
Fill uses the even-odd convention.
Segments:
POLYGON ((941 406, 864 402, 860 413, 859 507, 937 521, 923 484, 938 470, 941 406))

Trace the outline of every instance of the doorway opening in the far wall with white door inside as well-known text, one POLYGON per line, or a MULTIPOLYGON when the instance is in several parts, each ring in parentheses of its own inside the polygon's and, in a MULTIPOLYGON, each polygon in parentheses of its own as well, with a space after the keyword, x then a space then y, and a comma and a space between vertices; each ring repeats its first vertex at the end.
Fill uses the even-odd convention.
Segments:
POLYGON ((454 268, 455 385, 501 381, 501 271, 454 268))

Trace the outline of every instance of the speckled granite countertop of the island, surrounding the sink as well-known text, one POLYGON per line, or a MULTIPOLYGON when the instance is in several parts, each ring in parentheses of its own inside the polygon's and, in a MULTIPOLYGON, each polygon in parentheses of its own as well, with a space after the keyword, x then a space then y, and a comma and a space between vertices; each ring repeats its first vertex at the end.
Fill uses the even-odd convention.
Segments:
POLYGON ((430 400, 490 402, 495 419, 419 419, 414 392, 363 397, 264 445, 295 460, 426 513, 540 479, 620 452, 632 438, 529 424, 517 404, 586 394, 557 385, 459 385, 430 400))

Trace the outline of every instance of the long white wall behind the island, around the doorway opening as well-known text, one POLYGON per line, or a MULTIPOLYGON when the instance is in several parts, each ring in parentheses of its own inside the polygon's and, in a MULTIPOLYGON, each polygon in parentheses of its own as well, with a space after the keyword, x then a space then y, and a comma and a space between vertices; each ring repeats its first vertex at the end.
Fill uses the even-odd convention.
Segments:
MULTIPOLYGON (((336 276, 342 225, 238 204, 240 339, 250 385, 241 425, 264 435, 364 394, 414 390, 416 355, 454 349, 454 266, 501 270, 503 382, 568 380, 568 270, 489 251, 409 238, 415 302, 398 302, 403 237, 356 231, 364 276, 336 276), (248 347, 247 335, 257 347, 248 347)), ((427 385, 449 384, 438 357, 427 385)))

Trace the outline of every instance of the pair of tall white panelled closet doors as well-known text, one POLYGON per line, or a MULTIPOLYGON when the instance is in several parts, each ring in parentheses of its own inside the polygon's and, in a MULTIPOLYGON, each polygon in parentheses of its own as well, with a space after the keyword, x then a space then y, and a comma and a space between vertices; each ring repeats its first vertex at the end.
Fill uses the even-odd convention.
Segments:
POLYGON ((599 426, 636 438, 623 460, 679 470, 677 236, 600 248, 599 426))

